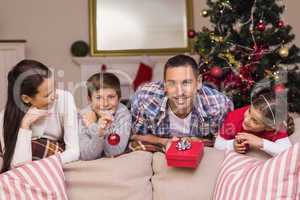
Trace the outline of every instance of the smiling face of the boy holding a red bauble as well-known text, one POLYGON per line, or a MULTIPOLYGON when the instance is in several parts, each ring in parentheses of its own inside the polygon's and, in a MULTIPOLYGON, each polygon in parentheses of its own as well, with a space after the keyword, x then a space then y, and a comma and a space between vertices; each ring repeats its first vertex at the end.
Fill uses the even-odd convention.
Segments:
POLYGON ((92 93, 89 99, 92 109, 99 115, 99 112, 115 113, 119 105, 119 97, 116 90, 103 88, 92 93))

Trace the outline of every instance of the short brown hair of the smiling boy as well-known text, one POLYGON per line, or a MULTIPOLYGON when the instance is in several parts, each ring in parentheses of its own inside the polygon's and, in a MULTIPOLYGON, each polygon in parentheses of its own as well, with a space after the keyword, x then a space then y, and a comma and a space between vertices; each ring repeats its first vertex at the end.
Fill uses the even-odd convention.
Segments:
POLYGON ((87 80, 86 86, 89 98, 92 97, 93 92, 98 91, 101 88, 110 88, 114 89, 119 99, 121 99, 120 80, 113 73, 96 73, 87 80))

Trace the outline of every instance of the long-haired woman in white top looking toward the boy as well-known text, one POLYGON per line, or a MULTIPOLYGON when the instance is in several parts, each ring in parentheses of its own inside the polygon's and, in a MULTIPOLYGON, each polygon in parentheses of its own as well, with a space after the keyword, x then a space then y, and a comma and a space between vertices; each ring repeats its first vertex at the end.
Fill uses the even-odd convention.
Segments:
POLYGON ((78 159, 75 102, 54 85, 51 71, 34 60, 23 60, 8 73, 7 103, 0 115, 1 172, 58 152, 63 163, 78 159))

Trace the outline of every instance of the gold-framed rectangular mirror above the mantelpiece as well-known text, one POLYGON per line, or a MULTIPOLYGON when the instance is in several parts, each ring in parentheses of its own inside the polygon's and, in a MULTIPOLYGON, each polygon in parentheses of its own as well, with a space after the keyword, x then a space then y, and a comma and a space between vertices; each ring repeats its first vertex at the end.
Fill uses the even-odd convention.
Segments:
POLYGON ((192 0, 89 0, 92 56, 189 52, 192 0))

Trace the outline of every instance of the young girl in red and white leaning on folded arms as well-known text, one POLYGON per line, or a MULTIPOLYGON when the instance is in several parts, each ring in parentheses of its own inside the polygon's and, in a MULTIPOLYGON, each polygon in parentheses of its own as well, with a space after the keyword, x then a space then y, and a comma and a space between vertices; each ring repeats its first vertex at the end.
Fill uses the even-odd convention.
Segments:
POLYGON ((270 155, 277 155, 291 146, 288 135, 293 131, 293 120, 288 118, 287 107, 273 93, 260 94, 250 106, 228 113, 215 148, 247 153, 256 148, 270 155))

